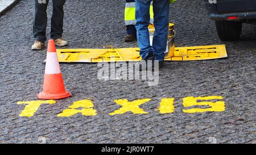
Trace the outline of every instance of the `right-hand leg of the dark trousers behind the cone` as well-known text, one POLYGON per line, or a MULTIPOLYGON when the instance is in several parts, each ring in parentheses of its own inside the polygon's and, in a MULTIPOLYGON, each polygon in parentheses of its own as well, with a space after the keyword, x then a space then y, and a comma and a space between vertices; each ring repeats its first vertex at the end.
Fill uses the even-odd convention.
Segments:
POLYGON ((65 0, 52 0, 52 2, 53 12, 51 18, 51 38, 53 40, 56 40, 58 38, 61 38, 63 34, 63 6, 65 4, 65 0))

